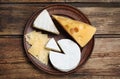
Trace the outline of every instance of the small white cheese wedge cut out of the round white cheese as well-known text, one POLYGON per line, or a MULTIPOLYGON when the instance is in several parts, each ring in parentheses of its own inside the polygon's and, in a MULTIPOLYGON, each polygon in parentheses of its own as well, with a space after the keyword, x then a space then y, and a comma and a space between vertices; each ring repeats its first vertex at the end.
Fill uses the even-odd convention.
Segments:
POLYGON ((46 45, 46 48, 50 49, 50 50, 54 50, 54 51, 58 51, 61 52, 60 48, 58 47, 56 41, 54 38, 51 38, 49 40, 49 42, 46 45))

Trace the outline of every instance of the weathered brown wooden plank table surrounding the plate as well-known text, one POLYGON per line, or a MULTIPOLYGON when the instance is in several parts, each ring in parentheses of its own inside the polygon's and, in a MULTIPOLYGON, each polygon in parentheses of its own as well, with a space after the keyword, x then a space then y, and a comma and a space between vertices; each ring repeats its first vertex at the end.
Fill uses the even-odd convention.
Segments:
POLYGON ((0 79, 120 79, 120 0, 0 0, 0 79), (71 75, 39 70, 23 48, 27 20, 50 4, 75 6, 97 28, 89 60, 71 75))

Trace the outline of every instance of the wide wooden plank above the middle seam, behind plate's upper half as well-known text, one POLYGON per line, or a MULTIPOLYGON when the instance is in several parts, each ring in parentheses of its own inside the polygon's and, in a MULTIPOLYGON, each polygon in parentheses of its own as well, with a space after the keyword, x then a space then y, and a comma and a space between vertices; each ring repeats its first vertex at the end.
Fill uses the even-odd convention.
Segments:
MULTIPOLYGON (((0 35, 22 35, 29 17, 46 4, 1 4, 0 35)), ((96 34, 120 34, 119 7, 77 7, 88 16, 96 34)))

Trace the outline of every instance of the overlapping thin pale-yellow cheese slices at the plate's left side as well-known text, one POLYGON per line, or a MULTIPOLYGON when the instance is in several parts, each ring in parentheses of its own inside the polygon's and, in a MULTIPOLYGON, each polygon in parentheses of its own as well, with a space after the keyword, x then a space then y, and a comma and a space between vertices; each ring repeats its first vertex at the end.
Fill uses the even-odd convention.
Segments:
POLYGON ((47 34, 32 31, 25 35, 26 41, 31 45, 28 52, 43 64, 48 64, 49 50, 45 49, 45 45, 49 41, 47 34))

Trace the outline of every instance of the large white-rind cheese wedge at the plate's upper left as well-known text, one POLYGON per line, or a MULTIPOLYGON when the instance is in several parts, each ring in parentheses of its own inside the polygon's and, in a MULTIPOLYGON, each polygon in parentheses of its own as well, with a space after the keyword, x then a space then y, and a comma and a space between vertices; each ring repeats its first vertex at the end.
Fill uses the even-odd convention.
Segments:
POLYGON ((33 23, 33 27, 38 28, 40 30, 52 32, 54 34, 59 34, 59 31, 55 27, 49 13, 47 10, 43 10, 38 17, 35 19, 33 23))

